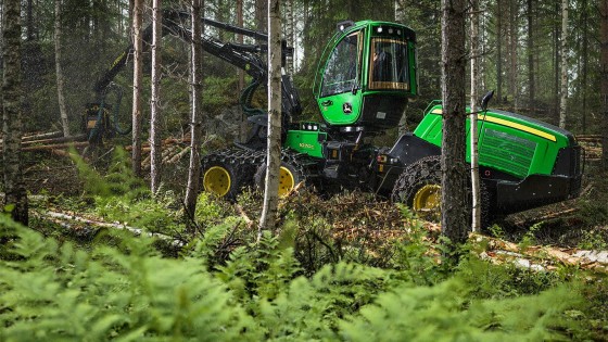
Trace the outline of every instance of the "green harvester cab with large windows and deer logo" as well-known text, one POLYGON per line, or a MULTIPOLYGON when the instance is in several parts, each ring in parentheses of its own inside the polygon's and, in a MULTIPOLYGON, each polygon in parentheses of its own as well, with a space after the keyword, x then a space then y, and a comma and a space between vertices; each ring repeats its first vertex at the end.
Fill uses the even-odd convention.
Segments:
POLYGON ((416 34, 387 22, 342 22, 321 55, 315 98, 340 136, 396 127, 417 94, 416 34))

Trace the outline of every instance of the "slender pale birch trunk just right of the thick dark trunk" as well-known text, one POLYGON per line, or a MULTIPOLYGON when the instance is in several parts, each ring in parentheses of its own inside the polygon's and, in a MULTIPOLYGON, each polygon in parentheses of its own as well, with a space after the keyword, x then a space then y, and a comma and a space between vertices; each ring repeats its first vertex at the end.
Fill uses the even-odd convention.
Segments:
POLYGON ((471 109, 470 109, 470 144, 471 144, 471 192, 472 192, 472 226, 473 232, 481 230, 481 201, 479 179, 479 153, 477 149, 477 98, 479 75, 479 0, 470 0, 471 3, 471 109))

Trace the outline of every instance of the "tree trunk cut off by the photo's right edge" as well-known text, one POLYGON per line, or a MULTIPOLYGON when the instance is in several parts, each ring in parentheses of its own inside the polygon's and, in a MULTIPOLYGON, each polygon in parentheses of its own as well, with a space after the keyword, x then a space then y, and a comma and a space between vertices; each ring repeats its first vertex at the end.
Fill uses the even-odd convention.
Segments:
POLYGON ((608 0, 600 0, 599 10, 599 43, 600 43, 600 77, 601 77, 601 169, 608 172, 608 0))

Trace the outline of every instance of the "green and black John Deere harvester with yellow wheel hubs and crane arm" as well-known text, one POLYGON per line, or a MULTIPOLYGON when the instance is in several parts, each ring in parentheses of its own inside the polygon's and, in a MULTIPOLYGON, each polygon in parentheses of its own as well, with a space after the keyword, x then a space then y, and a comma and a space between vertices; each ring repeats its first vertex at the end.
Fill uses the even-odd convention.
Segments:
MULTIPOLYGON (((187 13, 166 11, 163 31, 189 40, 185 20, 187 13)), ((204 190, 235 198, 244 187, 263 186, 265 178, 267 117, 265 110, 252 105, 252 98, 259 86, 267 84, 268 37, 206 18, 202 22, 259 42, 242 45, 201 37, 207 53, 251 77, 240 98, 252 124, 249 138, 202 159, 204 190)), ((144 40, 150 37, 151 29, 147 29, 144 40)), ((127 48, 98 81, 98 94, 104 93, 131 49, 127 48)), ((283 41, 281 50, 284 63, 293 49, 283 41)), ((441 104, 431 105, 418 127, 401 136, 393 147, 370 142, 370 138, 396 127, 408 99, 417 96, 416 53, 416 34, 404 25, 339 23, 321 55, 314 87, 321 122, 292 123, 302 107, 290 75, 282 76, 280 194, 305 182, 320 191, 335 187, 366 189, 405 202, 417 212, 439 208, 441 104)), ((480 112, 478 117, 485 217, 579 195, 582 150, 570 132, 497 110, 480 112)))

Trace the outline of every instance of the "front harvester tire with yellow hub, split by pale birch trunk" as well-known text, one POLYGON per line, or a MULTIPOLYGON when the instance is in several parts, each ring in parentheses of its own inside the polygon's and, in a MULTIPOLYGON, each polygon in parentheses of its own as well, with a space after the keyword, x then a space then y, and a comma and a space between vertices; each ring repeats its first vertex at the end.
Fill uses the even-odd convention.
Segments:
MULTIPOLYGON (((266 185, 266 162, 262 163, 253 177, 258 191, 264 191, 266 185)), ((295 155, 282 152, 279 174, 279 197, 288 195, 299 183, 306 183, 306 173, 295 155)))

